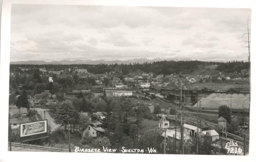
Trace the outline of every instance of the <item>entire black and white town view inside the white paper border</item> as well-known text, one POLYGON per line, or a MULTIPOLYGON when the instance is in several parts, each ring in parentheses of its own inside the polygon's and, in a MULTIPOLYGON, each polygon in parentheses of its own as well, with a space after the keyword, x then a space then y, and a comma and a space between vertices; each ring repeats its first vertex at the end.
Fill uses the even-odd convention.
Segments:
POLYGON ((249 156, 253 32, 251 8, 13 3, 3 147, 249 156))

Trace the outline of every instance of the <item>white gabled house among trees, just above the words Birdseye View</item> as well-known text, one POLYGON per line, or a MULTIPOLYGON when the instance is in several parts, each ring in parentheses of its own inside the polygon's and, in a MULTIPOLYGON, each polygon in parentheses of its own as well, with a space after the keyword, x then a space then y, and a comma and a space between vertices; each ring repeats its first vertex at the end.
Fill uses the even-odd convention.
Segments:
POLYGON ((84 130, 80 129, 80 133, 82 137, 102 137, 102 135, 105 133, 105 130, 101 127, 93 127, 89 125, 84 130))

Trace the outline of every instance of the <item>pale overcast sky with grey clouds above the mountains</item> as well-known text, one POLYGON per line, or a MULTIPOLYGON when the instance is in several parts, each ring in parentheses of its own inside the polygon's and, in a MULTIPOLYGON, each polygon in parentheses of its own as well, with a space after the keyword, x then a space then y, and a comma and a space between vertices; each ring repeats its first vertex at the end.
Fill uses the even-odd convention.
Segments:
POLYGON ((246 40, 250 15, 250 9, 13 4, 10 60, 247 60, 239 41, 246 40))

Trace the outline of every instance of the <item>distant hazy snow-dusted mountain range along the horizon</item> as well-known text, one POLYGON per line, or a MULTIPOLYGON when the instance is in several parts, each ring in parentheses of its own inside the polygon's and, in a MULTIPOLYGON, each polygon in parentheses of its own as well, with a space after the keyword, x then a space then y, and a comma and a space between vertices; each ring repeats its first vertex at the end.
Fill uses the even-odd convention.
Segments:
POLYGON ((173 61, 190 61, 190 59, 166 59, 162 57, 157 57, 155 59, 148 59, 148 58, 140 58, 140 59, 129 59, 129 60, 60 60, 60 61, 43 61, 43 60, 29 60, 29 61, 12 61, 10 64, 33 64, 33 65, 42 65, 42 64, 55 64, 55 65, 69 65, 69 64, 90 64, 90 65, 97 65, 97 64, 133 64, 133 63, 143 63, 143 62, 157 62, 157 61, 164 61, 164 60, 173 60, 173 61))

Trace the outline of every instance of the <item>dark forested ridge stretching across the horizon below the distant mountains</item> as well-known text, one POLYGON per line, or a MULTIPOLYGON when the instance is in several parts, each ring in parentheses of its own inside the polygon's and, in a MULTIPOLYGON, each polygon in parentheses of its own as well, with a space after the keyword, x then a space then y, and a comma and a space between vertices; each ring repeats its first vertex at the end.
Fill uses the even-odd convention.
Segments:
MULTIPOLYGON (((209 66, 217 65, 216 70, 223 71, 227 73, 233 73, 237 71, 248 69, 248 62, 243 61, 231 61, 231 62, 205 62, 205 61, 159 61, 143 64, 99 64, 99 65, 85 65, 85 64, 75 64, 75 65, 10 65, 10 71, 15 70, 17 67, 45 67, 47 70, 60 71, 65 70, 65 68, 77 67, 78 69, 87 69, 89 73, 92 74, 104 74, 106 72, 118 71, 122 72, 124 75, 130 72, 135 72, 136 70, 141 70, 145 73, 153 72, 158 74, 191 74, 200 68, 207 69, 209 66)), ((16 71, 16 70, 15 70, 16 71)))

